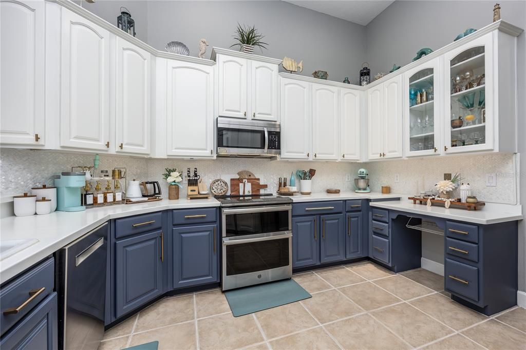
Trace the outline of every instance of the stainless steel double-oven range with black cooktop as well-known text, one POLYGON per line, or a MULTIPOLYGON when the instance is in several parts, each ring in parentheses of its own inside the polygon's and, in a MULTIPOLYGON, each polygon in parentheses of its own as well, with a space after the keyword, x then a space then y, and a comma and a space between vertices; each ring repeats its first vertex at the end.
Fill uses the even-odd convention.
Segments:
POLYGON ((221 203, 222 290, 292 277, 292 200, 271 194, 221 203))

